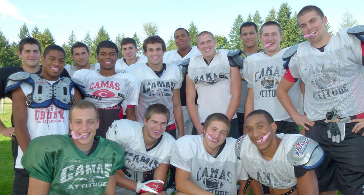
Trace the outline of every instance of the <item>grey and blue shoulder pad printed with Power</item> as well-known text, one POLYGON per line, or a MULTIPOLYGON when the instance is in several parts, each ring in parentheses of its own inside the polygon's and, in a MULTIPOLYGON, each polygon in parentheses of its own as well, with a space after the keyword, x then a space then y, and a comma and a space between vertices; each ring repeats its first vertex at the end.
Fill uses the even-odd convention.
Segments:
POLYGON ((324 151, 315 140, 301 136, 294 142, 287 159, 293 166, 312 170, 321 164, 324 155, 324 151))

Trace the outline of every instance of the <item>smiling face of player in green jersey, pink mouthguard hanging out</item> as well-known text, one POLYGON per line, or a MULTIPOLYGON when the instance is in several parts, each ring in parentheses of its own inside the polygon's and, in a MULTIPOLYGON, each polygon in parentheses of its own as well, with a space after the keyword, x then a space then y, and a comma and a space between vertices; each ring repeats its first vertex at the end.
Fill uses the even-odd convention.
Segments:
POLYGON ((83 135, 82 138, 72 139, 72 141, 80 150, 90 150, 100 123, 95 110, 93 108, 74 108, 71 116, 70 130, 74 131, 77 137, 83 135))

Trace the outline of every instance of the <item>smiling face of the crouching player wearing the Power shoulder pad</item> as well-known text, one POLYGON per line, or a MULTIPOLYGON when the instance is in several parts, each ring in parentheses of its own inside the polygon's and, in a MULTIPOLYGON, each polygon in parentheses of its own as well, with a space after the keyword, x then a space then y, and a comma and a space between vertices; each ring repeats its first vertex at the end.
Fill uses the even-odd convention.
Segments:
POLYGON ((264 114, 255 114, 246 118, 244 125, 250 140, 258 150, 266 150, 270 146, 276 134, 276 123, 269 124, 264 114), (269 132, 270 134, 268 134, 269 132))

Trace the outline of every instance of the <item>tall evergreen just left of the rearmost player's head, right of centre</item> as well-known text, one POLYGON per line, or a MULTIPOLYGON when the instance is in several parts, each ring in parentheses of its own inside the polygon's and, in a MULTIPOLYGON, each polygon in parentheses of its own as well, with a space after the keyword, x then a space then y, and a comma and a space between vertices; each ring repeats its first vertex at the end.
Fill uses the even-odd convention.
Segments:
POLYGON ((244 23, 243 17, 239 14, 234 20, 229 32, 230 49, 243 49, 243 41, 240 39, 240 26, 244 23))

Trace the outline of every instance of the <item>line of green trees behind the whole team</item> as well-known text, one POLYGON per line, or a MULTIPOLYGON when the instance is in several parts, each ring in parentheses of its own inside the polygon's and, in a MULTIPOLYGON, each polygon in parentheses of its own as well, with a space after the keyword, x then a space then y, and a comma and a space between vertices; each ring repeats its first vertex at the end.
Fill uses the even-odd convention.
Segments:
MULTIPOLYGON (((291 9, 292 8, 288 5, 288 3, 282 3, 278 11, 276 11, 274 8, 270 9, 268 15, 265 17, 264 20, 262 19, 258 11, 255 11, 253 15, 252 13, 249 13, 246 19, 244 19, 241 14, 239 14, 233 22, 233 26, 229 31, 228 37, 225 37, 224 35, 215 35, 215 39, 217 41, 217 49, 243 49, 243 43, 239 37, 239 34, 241 24, 246 21, 253 21, 254 23, 256 23, 258 30, 260 29, 261 25, 266 21, 276 21, 278 24, 280 24, 283 32, 281 48, 290 47, 292 45, 296 45, 305 41, 297 25, 297 12, 292 13, 291 9)), ((352 27, 353 25, 357 25, 357 21, 353 18, 351 13, 345 12, 342 17, 342 21, 339 23, 340 27, 338 30, 346 27, 352 27)), ((179 25, 179 27, 181 27, 181 25, 179 25)), ((333 34, 333 31, 330 28, 331 25, 328 23, 327 29, 329 30, 330 34, 333 34)), ((196 37, 199 31, 193 21, 191 21, 187 30, 189 31, 191 36, 191 45, 196 46, 196 37)), ((143 31, 146 37, 151 35, 157 35, 159 32, 158 24, 152 21, 144 23, 143 31)), ((38 27, 34 27, 29 33, 29 30, 25 23, 21 26, 18 36, 20 40, 24 39, 25 37, 34 37, 41 44, 42 51, 44 51, 44 48, 46 48, 48 45, 55 44, 55 39, 48 28, 44 29, 44 31, 41 32, 38 27)), ((74 62, 71 58, 71 47, 77 41, 81 41, 88 46, 91 54, 90 63, 95 64, 98 62, 96 59, 96 47, 98 43, 104 40, 114 41, 114 43, 118 45, 119 51, 121 51, 120 42, 124 37, 124 33, 119 33, 114 40, 111 40, 109 34, 106 32, 103 26, 99 28, 99 31, 95 35, 95 37, 92 37, 87 31, 86 35, 81 40, 78 39, 74 31, 72 31, 71 35, 68 37, 67 43, 62 44, 62 48, 66 52, 66 64, 74 65, 74 62)), ((143 38, 145 37, 141 37, 137 34, 137 32, 135 32, 132 38, 135 39, 135 41, 137 42, 139 50, 138 55, 142 55, 142 44, 143 38)), ((258 44, 259 47, 262 48, 262 43, 259 41, 259 38, 258 44)), ((166 47, 167 51, 177 49, 177 46, 174 43, 173 32, 171 32, 169 39, 166 40, 166 47)), ((13 43, 9 43, 9 40, 6 39, 0 29, 0 67, 21 66, 21 60, 17 56, 17 50, 18 43, 14 41, 13 43)), ((118 57, 123 57, 121 55, 121 52, 119 52, 118 57)))

